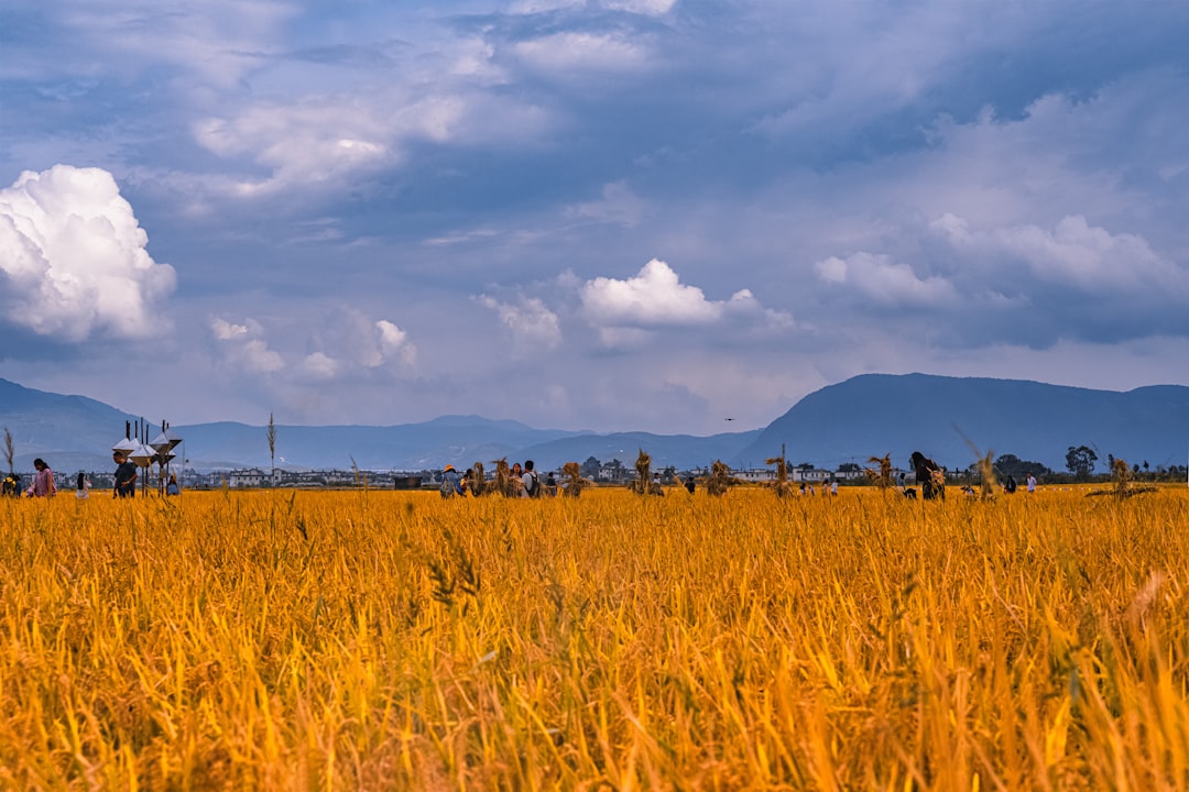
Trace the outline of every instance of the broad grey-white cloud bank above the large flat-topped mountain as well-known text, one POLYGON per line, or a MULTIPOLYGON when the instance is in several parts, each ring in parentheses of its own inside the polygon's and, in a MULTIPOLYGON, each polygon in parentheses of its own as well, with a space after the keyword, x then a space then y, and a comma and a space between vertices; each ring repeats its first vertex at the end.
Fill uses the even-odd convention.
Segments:
POLYGON ((887 227, 895 253, 828 256, 814 272, 823 293, 879 309, 881 322, 899 316, 906 332, 940 321, 946 331, 938 343, 964 348, 1182 335, 1189 327, 1189 268, 1143 236, 1082 215, 1051 227, 945 213, 887 227))

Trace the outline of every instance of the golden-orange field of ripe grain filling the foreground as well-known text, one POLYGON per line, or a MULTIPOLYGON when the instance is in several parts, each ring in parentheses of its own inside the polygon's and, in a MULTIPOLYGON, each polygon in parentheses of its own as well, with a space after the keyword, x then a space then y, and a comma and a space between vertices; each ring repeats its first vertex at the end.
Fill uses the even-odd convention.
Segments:
POLYGON ((0 503, 5 790, 1182 790, 1189 489, 0 503))

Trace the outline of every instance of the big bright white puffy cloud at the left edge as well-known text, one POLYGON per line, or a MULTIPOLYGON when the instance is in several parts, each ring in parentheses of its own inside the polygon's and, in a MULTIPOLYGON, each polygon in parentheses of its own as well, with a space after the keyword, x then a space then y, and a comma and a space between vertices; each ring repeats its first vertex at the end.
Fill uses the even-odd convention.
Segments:
POLYGON ((68 342, 161 332, 176 274, 147 242, 107 171, 26 171, 0 190, 0 315, 68 342))

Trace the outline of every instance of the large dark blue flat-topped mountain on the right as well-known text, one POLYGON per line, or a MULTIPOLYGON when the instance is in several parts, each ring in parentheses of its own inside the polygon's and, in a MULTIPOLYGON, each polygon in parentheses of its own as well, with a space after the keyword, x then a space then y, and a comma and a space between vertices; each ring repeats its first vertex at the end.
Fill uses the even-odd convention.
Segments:
POLYGON ((789 462, 836 468, 891 454, 907 467, 920 450, 950 468, 979 451, 1014 454, 1065 469, 1070 445, 1152 467, 1184 464, 1189 387, 1157 385, 1128 392, 1094 391, 1030 380, 863 374, 816 391, 765 429, 744 456, 773 456, 784 443, 789 462))

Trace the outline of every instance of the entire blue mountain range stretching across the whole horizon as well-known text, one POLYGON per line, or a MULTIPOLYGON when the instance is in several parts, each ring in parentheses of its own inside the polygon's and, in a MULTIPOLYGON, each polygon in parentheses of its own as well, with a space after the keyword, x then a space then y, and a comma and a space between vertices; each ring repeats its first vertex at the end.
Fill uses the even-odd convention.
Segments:
MULTIPOLYGON (((136 417, 78 395, 26 388, 0 379, 0 425, 15 446, 19 470, 42 456, 58 471, 111 468, 111 446, 136 417)), ((175 425, 196 469, 266 468, 266 429, 238 423, 175 425)), ((156 436, 158 429, 150 429, 156 436)), ((763 467, 784 446, 789 463, 837 469, 891 454, 900 467, 923 451, 964 468, 993 449, 1021 460, 1065 467, 1070 445, 1088 445, 1151 467, 1184 464, 1189 451, 1189 387, 1163 385, 1126 393, 1020 380, 926 374, 864 374, 809 394, 767 427, 709 437, 534 429, 514 420, 445 416, 396 426, 277 425, 277 465, 291 469, 436 469, 534 460, 552 469, 596 457, 630 465, 640 449, 653 469, 763 467), (969 441, 969 443, 968 443, 969 441), (974 448, 971 448, 971 445, 974 448)))

